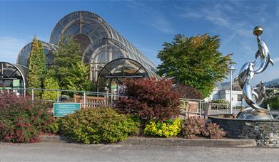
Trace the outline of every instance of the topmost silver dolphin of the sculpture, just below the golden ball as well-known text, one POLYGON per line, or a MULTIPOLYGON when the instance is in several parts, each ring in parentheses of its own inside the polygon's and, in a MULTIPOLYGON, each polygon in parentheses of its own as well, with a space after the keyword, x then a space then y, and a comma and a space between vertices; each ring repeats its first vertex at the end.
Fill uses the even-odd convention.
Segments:
POLYGON ((270 58, 268 45, 266 45, 265 41, 260 39, 260 36, 257 36, 258 41, 258 51, 255 53, 255 58, 260 56, 260 68, 255 70, 255 74, 259 74, 263 72, 268 65, 274 65, 274 61, 270 58))

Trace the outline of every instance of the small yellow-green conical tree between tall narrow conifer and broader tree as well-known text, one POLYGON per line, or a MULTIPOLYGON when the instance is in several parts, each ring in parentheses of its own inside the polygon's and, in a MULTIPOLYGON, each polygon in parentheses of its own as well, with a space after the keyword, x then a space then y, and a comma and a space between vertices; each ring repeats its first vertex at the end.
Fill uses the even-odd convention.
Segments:
MULTIPOLYGON (((43 92, 42 98, 46 100, 56 100, 57 99, 57 92, 56 91, 47 91, 47 90, 59 90, 59 82, 54 77, 54 70, 51 69, 46 75, 46 78, 44 80, 44 89, 46 91, 43 92)), ((61 92, 59 92, 59 96, 61 95, 61 92)))

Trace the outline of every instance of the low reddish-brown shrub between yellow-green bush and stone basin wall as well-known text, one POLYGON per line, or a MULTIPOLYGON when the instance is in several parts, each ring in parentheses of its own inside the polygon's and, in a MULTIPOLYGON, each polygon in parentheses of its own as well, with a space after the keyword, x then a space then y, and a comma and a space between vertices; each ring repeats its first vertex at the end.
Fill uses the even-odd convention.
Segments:
POLYGON ((182 124, 182 133, 187 139, 195 139, 198 136, 208 136, 210 139, 222 139, 225 131, 215 123, 206 126, 206 119, 189 117, 182 124))

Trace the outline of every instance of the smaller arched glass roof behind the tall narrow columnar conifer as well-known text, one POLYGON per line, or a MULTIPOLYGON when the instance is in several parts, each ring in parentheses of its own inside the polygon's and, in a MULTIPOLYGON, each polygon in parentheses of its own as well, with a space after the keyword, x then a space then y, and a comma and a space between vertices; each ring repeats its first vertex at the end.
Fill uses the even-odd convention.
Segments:
MULTIPOLYGON (((51 65, 54 61, 54 55, 53 52, 54 50, 57 49, 56 45, 52 45, 49 43, 46 43, 44 41, 41 41, 44 45, 44 55, 46 55, 46 65, 51 65)), ((21 49, 19 52, 19 55, 17 56, 16 59, 16 64, 18 65, 24 65, 28 67, 28 60, 29 60, 29 54, 31 52, 32 48, 32 42, 28 43, 27 45, 24 46, 24 48, 21 49)))

